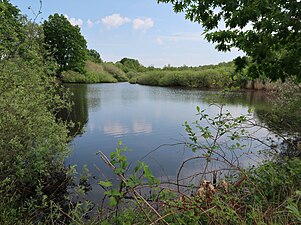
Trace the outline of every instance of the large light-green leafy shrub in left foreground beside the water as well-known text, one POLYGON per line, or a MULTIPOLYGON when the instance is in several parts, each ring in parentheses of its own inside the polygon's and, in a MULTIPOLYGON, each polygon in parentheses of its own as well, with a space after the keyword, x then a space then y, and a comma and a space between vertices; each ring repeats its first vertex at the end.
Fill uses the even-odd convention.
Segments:
POLYGON ((29 216, 26 202, 37 197, 38 187, 40 193, 52 195, 66 179, 68 131, 55 117, 66 103, 45 70, 33 60, 0 63, 1 224, 29 216))

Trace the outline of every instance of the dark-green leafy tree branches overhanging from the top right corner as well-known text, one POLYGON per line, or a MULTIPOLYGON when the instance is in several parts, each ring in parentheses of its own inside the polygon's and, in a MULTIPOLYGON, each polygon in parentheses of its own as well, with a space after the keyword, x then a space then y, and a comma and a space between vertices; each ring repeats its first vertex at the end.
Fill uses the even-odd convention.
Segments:
POLYGON ((203 25, 205 38, 219 51, 242 50, 235 62, 249 62, 252 77, 301 79, 301 2, 298 0, 158 0, 203 25), (224 29, 220 29, 223 23, 224 29))

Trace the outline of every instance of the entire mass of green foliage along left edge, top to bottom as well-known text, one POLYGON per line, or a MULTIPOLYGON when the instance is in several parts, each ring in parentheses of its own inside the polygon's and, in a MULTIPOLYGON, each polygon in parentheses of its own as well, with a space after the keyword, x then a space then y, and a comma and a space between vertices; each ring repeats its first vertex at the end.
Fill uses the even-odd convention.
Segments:
POLYGON ((67 125, 56 114, 70 106, 41 27, 9 1, 0 9, 0 223, 39 223, 45 193, 54 198, 67 184, 67 125))

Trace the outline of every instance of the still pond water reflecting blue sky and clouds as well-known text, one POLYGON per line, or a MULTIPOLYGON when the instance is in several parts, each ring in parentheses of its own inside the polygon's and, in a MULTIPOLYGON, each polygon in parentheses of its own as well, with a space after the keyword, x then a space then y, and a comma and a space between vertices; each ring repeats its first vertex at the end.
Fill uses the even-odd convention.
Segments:
MULTIPOLYGON (((210 116, 219 112, 208 101, 217 91, 128 83, 68 87, 74 93, 75 103, 70 119, 80 122, 84 132, 71 142, 72 154, 66 164, 76 164, 79 172, 83 165, 88 166, 95 180, 92 198, 97 197, 97 181, 112 176, 112 171, 96 154, 99 150, 109 156, 122 140, 128 147, 126 156, 130 162, 143 160, 156 177, 174 177, 180 162, 193 155, 184 145, 177 144, 187 138, 184 122, 198 119, 197 106, 206 109, 210 116)), ((256 92, 238 92, 219 100, 233 116, 247 114, 250 107, 268 108, 264 94, 256 92)), ((186 172, 195 170, 195 166, 190 165, 186 172)))

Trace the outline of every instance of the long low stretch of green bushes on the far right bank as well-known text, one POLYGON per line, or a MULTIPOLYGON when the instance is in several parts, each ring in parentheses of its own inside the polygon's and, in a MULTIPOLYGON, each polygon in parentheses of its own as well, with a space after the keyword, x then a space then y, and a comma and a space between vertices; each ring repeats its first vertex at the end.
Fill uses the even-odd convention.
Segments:
POLYGON ((225 88, 240 85, 237 76, 234 76, 232 62, 199 67, 151 68, 145 72, 130 71, 127 73, 127 77, 130 83, 152 86, 225 88))

